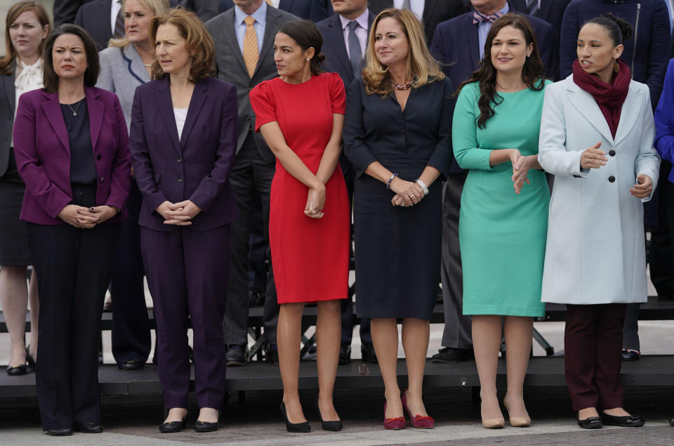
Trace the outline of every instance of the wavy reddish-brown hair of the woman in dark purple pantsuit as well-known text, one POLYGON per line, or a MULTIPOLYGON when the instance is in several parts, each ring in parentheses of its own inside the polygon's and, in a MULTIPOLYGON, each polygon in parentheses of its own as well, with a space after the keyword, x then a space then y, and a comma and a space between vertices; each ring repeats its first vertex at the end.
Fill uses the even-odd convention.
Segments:
MULTIPOLYGON (((216 46, 213 38, 201 20, 190 11, 183 8, 171 9, 168 13, 155 15, 150 20, 150 41, 154 45, 157 41, 157 29, 161 25, 171 24, 178 28, 178 32, 185 39, 185 49, 190 53, 190 80, 194 83, 213 77, 218 74, 216 69, 216 46)), ((159 60, 152 63, 152 79, 161 79, 166 76, 161 70, 159 60)))

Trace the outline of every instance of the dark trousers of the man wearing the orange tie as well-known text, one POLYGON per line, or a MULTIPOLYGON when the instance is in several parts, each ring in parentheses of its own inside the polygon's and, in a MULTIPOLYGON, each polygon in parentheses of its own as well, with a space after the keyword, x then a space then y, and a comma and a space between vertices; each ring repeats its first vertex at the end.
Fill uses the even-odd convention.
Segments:
MULTIPOLYGON (((248 313, 251 306, 248 293, 249 243, 253 225, 253 203, 256 199, 260 199, 262 202, 265 239, 268 246, 269 198, 275 171, 275 164, 265 161, 260 156, 253 133, 249 133, 234 160, 234 169, 232 169, 230 175, 230 184, 239 208, 239 218, 237 221, 233 221, 230 227, 232 235, 230 281, 227 284, 227 306, 223 318, 223 333, 225 343, 228 344, 242 344, 248 341, 248 313)), ((276 343, 278 319, 279 306, 270 262, 263 313, 265 336, 269 343, 276 343)))

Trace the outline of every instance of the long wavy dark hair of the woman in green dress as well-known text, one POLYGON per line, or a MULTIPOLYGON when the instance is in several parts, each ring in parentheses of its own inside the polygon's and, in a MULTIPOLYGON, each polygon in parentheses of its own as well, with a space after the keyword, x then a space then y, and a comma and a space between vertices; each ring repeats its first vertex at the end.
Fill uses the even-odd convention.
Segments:
POLYGON ((520 29, 524 34, 524 41, 527 46, 531 45, 533 51, 531 55, 524 61, 522 67, 522 81, 527 84, 531 90, 542 90, 545 86, 543 80, 546 78, 545 67, 541 61, 541 56, 538 55, 538 44, 536 43, 536 34, 531 28, 529 20, 524 18, 524 15, 517 15, 508 13, 503 15, 491 25, 489 33, 487 34, 487 41, 484 43, 484 56, 480 61, 480 68, 478 68, 470 78, 463 81, 458 87, 456 94, 461 91, 463 86, 477 82, 480 86, 480 99, 477 100, 477 107, 480 108, 480 116, 477 117, 477 126, 484 129, 487 126, 489 118, 494 116, 494 108, 496 105, 503 102, 503 96, 496 92, 496 68, 491 63, 491 45, 498 34, 504 27, 511 26, 520 29))

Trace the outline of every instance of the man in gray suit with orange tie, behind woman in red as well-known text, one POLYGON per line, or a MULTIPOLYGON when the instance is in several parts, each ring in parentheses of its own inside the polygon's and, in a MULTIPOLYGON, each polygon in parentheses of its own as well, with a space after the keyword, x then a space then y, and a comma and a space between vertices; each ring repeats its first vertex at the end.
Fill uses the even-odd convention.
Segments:
MULTIPOLYGON (((227 308, 223 320, 225 343, 227 343, 227 365, 244 365, 247 362, 246 344, 248 340, 248 294, 249 240, 251 214, 256 192, 262 199, 265 235, 268 237, 269 199, 272 178, 275 173, 276 157, 265 144, 265 140, 255 132, 255 113, 251 108, 249 91, 267 79, 276 77, 278 72, 274 62, 272 44, 279 28, 297 18, 285 11, 268 6, 263 0, 234 0, 235 8, 230 8, 206 23, 216 44, 218 77, 237 87, 239 101, 239 137, 237 157, 230 176, 232 190, 237 199, 239 219, 232 223, 232 254, 230 281, 227 285, 227 308), (244 20, 255 19, 251 25, 244 20), (249 69, 243 57, 246 27, 252 26, 258 42, 258 62, 249 69)), ((267 244, 268 244, 267 239, 267 244)), ((276 287, 270 269, 267 277, 267 292, 263 315, 265 336, 270 343, 270 357, 277 358, 276 323, 278 306, 276 287)))

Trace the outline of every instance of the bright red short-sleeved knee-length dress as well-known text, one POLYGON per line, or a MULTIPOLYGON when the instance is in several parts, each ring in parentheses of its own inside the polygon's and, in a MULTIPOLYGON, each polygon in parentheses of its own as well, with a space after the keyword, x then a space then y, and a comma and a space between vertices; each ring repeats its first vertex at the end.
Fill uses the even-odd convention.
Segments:
MULTIPOLYGON (((333 127, 344 114, 344 84, 322 73, 302 84, 281 78, 250 93, 256 131, 278 122, 286 143, 316 173, 333 127)), ((309 189, 276 162, 269 212, 269 244, 279 303, 330 301, 348 297, 350 206, 339 164, 325 185, 323 218, 304 214, 309 189)))

